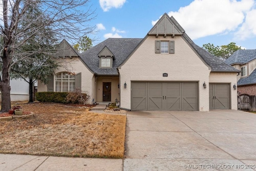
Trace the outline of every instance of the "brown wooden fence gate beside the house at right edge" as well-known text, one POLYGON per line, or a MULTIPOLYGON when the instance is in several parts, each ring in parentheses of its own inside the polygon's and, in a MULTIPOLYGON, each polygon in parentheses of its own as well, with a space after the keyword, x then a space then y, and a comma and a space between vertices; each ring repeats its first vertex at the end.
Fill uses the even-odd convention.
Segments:
POLYGON ((238 110, 256 111, 256 95, 241 94, 237 102, 238 110))

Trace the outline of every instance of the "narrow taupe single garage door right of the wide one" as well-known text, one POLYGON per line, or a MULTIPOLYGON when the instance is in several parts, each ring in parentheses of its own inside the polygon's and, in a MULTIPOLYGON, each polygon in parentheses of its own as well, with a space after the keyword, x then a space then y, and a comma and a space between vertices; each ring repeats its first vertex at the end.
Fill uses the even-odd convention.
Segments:
POLYGON ((230 84, 209 84, 209 108, 230 109, 230 84))

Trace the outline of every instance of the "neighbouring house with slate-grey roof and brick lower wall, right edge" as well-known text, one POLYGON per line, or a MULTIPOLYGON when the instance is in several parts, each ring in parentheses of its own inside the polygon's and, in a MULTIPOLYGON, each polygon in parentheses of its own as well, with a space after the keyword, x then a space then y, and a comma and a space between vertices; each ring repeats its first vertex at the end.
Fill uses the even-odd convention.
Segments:
POLYGON ((256 50, 237 50, 225 63, 241 70, 237 76, 238 94, 256 95, 256 50))

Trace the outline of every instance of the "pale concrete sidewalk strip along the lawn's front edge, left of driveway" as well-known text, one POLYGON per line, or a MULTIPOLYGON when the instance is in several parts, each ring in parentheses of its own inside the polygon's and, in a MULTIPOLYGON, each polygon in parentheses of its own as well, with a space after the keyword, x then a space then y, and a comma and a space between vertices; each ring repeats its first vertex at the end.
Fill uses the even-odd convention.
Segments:
POLYGON ((0 171, 122 171, 122 159, 0 154, 0 171))

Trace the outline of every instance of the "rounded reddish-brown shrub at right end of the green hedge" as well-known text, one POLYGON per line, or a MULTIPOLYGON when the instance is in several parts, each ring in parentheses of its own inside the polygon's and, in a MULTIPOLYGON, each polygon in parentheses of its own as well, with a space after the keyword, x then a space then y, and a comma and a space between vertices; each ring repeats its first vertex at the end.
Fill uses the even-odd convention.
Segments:
POLYGON ((74 91, 69 92, 66 97, 68 103, 74 104, 85 104, 88 99, 90 99, 90 95, 87 95, 87 93, 80 88, 76 88, 74 91))

